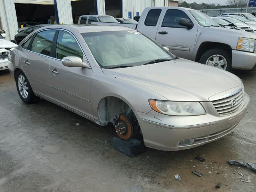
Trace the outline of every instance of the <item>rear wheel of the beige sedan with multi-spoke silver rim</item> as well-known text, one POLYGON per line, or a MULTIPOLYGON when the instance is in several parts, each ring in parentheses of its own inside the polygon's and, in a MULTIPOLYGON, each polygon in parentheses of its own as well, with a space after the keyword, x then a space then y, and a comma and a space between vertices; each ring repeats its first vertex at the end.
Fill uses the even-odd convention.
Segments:
POLYGON ((32 103, 39 100, 39 97, 35 96, 28 78, 22 71, 16 72, 15 82, 20 99, 24 103, 32 103))

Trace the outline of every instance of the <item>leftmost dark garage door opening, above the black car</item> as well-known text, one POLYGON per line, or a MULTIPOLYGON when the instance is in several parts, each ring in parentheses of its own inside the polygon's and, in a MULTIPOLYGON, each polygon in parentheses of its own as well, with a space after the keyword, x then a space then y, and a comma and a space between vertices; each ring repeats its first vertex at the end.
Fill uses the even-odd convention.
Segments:
POLYGON ((21 24, 29 27, 36 23, 53 24, 56 21, 54 5, 15 3, 15 10, 19 28, 21 24))

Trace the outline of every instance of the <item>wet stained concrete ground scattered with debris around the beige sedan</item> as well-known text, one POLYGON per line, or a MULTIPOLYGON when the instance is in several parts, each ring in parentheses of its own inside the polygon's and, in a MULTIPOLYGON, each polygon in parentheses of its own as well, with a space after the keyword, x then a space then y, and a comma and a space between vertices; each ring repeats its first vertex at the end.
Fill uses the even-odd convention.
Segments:
POLYGON ((111 126, 46 100, 24 104, 9 72, 0 71, 0 192, 255 192, 256 172, 227 163, 256 163, 256 70, 235 73, 251 102, 234 133, 194 149, 148 148, 129 158, 112 147, 111 126), (195 160, 198 155, 206 161, 195 160))

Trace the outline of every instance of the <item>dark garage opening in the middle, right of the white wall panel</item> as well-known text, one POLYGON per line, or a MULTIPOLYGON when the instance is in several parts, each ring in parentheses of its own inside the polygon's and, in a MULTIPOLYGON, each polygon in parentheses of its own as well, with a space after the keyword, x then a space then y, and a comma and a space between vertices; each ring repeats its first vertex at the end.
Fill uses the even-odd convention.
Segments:
POLYGON ((94 0, 71 0, 73 22, 77 23, 81 15, 95 15, 94 0))

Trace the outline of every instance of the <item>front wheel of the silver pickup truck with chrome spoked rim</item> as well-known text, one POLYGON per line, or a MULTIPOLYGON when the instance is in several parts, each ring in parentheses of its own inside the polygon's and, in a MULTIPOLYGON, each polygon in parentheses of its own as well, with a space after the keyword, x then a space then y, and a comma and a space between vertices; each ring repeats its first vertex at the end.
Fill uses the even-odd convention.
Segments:
POLYGON ((199 60, 200 63, 226 71, 231 71, 231 57, 226 50, 210 49, 199 60))

